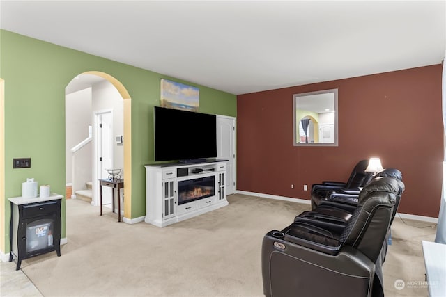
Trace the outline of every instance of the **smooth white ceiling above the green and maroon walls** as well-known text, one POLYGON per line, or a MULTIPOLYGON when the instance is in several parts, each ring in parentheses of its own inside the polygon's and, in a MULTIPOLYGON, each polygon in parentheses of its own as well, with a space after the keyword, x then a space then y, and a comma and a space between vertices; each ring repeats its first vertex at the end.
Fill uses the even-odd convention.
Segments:
POLYGON ((2 29, 232 94, 439 64, 445 1, 0 1, 2 29))

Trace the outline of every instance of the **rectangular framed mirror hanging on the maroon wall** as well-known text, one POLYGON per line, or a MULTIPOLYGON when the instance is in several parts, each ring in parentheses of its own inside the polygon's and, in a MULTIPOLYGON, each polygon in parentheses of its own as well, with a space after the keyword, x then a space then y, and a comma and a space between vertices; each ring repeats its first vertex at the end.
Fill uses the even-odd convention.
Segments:
POLYGON ((293 95, 295 146, 338 146, 337 89, 293 95))

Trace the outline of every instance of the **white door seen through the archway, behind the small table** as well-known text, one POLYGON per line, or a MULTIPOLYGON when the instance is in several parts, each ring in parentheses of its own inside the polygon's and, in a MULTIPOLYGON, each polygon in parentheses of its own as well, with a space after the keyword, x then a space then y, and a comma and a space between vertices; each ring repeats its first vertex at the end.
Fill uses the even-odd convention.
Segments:
MULTIPOLYGON (((98 131, 99 177, 107 179, 109 174, 106 169, 113 168, 113 114, 111 111, 99 115, 98 131)), ((102 204, 112 204, 112 188, 102 187, 102 204)))

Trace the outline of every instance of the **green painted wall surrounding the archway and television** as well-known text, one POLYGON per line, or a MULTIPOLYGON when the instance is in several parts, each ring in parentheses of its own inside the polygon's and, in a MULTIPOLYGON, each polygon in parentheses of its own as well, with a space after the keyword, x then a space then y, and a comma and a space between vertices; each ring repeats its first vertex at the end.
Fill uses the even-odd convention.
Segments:
MULTIPOLYGON (((22 195, 22 182, 27 177, 34 177, 39 185, 49 184, 52 192, 65 193, 65 87, 86 71, 112 75, 132 98, 132 218, 146 213, 144 164, 154 161, 153 106, 160 104, 160 79, 197 86, 203 113, 236 116, 236 95, 0 30, 0 77, 5 80, 6 198, 22 195), (21 157, 31 157, 31 168, 13 169, 13 158, 21 157)), ((8 252, 7 199, 4 207, 8 252)), ((62 207, 65 237, 64 202, 62 207)))

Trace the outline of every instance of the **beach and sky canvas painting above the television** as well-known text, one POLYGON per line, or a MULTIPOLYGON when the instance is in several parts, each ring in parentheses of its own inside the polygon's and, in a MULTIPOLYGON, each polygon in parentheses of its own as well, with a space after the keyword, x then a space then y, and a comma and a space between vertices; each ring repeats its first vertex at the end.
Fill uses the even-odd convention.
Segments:
POLYGON ((160 106, 183 111, 198 111, 199 88, 161 79, 160 106))

